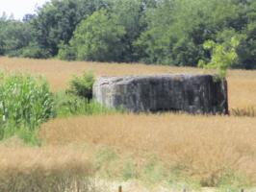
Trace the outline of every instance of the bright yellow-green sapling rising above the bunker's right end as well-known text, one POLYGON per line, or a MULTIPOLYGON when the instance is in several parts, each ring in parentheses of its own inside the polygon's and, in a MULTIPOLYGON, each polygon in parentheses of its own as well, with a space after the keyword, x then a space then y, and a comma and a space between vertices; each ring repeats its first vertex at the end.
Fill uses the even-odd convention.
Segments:
POLYGON ((237 36, 231 37, 228 45, 225 43, 218 44, 213 40, 208 40, 204 43, 204 49, 211 50, 212 59, 209 62, 199 60, 198 66, 206 69, 216 69, 218 76, 224 78, 228 67, 235 63, 238 59, 236 48, 239 46, 239 39, 237 36))

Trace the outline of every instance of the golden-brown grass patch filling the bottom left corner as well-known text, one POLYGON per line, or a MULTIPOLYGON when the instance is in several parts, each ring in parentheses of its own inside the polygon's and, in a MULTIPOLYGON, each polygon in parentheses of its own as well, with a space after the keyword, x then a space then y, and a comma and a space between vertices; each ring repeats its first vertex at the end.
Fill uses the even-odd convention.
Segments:
POLYGON ((81 150, 0 146, 3 192, 89 192, 92 174, 90 160, 81 150))

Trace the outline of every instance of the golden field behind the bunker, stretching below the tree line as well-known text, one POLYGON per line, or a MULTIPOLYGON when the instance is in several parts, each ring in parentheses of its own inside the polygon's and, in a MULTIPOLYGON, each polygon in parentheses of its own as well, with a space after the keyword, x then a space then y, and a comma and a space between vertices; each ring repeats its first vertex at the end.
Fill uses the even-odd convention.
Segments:
MULTIPOLYGON (((0 70, 25 72, 45 76, 53 90, 64 89, 73 75, 92 71, 96 76, 142 74, 203 73, 192 67, 170 67, 140 63, 102 63, 62 60, 30 60, 0 58, 0 70)), ((228 72, 230 108, 256 108, 256 71, 230 70, 228 72)))

